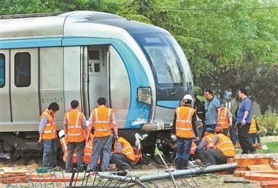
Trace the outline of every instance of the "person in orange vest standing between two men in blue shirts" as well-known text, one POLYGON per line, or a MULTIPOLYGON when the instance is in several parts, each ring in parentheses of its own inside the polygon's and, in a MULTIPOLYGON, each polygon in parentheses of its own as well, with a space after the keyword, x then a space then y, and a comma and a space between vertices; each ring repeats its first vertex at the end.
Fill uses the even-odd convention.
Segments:
POLYGON ((229 128, 231 128, 232 122, 233 122, 233 115, 231 114, 231 111, 226 108, 223 104, 223 100, 219 100, 220 102, 220 127, 223 129, 223 134, 225 136, 228 135, 229 128))

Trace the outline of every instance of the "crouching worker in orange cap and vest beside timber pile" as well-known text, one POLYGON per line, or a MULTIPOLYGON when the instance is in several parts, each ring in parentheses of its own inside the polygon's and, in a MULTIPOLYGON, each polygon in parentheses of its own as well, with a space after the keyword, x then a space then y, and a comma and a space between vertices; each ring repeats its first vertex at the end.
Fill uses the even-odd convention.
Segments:
POLYGON ((214 137, 209 143, 209 149, 206 151, 204 164, 224 164, 228 157, 234 157, 236 150, 234 144, 228 136, 223 134, 222 127, 215 127, 214 137))

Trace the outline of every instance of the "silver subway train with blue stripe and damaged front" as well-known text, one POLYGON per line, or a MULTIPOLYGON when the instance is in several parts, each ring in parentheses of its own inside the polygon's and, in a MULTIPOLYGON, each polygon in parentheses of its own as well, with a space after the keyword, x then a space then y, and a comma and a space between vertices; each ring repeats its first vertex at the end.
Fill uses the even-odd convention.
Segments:
POLYGON ((72 100, 89 118, 105 97, 133 144, 136 132, 169 131, 179 100, 193 95, 183 50, 157 26, 74 11, 2 15, 0 27, 0 157, 42 155, 39 119, 51 102, 61 130, 72 100))

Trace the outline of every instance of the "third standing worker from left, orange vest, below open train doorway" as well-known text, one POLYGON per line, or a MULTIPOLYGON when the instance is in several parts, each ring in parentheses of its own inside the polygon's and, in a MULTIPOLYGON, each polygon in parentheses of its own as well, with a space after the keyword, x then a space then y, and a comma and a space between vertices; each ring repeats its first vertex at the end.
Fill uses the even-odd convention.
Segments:
POLYGON ((86 141, 90 141, 90 133, 94 129, 94 139, 92 146, 92 159, 88 164, 88 171, 97 170, 97 160, 102 155, 101 171, 108 171, 108 165, 111 157, 112 147, 112 128, 115 136, 117 137, 117 123, 113 109, 106 107, 106 99, 100 97, 97 100, 98 107, 92 110, 89 118, 88 133, 86 141))

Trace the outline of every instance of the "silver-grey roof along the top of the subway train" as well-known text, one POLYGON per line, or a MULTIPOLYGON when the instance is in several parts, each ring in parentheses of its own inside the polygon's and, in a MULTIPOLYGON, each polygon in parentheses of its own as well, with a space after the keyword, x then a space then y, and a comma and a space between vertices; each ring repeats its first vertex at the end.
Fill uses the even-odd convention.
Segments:
POLYGON ((134 33, 168 33, 157 26, 131 21, 110 13, 74 11, 0 16, 0 39, 64 36, 66 27, 77 22, 79 24, 85 22, 86 24, 116 26, 128 31, 131 35, 134 33))

